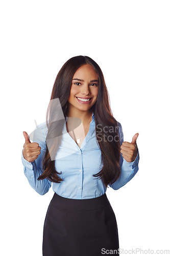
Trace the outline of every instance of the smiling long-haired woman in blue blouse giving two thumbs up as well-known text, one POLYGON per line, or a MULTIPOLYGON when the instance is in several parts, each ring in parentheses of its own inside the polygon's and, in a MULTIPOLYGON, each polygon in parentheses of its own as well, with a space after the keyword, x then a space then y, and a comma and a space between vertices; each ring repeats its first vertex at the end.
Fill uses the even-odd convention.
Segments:
POLYGON ((46 122, 37 126, 32 143, 23 135, 22 163, 30 185, 44 195, 53 182, 55 192, 44 221, 43 256, 113 250, 118 255, 106 189, 119 189, 137 173, 138 134, 123 142, 98 64, 87 56, 67 60, 56 77, 46 122))

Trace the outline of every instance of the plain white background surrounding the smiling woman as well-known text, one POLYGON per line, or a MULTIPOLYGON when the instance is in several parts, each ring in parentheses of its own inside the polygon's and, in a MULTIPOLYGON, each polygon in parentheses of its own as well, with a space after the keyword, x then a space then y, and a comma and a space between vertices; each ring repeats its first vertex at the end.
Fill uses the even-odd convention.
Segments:
MULTIPOLYGON (((169 1, 1 1, 1 255, 42 255, 46 210, 23 173, 21 151, 45 121, 67 59, 101 67, 124 140, 139 133, 139 170, 107 189, 119 247, 169 249, 169 1)), ((149 254, 149 253, 148 253, 149 254)), ((88 256, 88 255, 87 255, 88 256)))

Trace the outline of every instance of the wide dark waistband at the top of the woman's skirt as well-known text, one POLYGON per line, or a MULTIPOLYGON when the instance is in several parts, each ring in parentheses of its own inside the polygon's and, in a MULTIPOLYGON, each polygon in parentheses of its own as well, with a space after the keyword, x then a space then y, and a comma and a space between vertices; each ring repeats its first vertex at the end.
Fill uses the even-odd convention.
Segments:
POLYGON ((71 199, 54 193, 51 204, 62 210, 85 211, 100 209, 110 204, 106 193, 100 197, 90 199, 71 199))

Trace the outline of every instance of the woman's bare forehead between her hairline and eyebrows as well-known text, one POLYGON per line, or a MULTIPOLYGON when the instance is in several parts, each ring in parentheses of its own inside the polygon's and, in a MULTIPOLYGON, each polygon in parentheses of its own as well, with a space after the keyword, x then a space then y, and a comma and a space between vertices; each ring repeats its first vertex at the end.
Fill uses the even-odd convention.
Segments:
POLYGON ((98 78, 98 75, 94 71, 93 67, 89 64, 81 66, 74 74, 74 78, 98 78), (76 77, 75 77, 76 76, 76 77), (77 77, 79 76, 79 77, 77 77))

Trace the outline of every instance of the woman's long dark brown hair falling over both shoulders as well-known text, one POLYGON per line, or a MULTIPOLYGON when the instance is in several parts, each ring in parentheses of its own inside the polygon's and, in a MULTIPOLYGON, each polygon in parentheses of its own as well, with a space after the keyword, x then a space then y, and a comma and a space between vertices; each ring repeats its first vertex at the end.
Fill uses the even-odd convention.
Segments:
MULTIPOLYGON (((110 182, 111 184, 114 183, 120 175, 120 142, 119 139, 117 140, 118 124, 111 112, 108 90, 106 87, 102 70, 100 69, 99 65, 88 56, 80 55, 68 59, 63 65, 63 67, 60 69, 56 77, 51 94, 51 101, 53 99, 59 98, 62 108, 62 114, 66 119, 68 111, 67 99, 70 94, 72 77, 74 76, 75 72, 85 64, 90 64, 99 77, 98 97, 94 105, 90 108, 90 110, 94 113, 96 139, 98 141, 102 153, 101 160, 103 163, 103 168, 100 170, 98 174, 93 175, 93 177, 98 177, 99 179, 102 179, 103 183, 106 186, 108 186, 110 182), (100 129, 98 124, 100 124, 100 129), (110 127, 112 127, 112 129, 110 129, 110 127), (112 140, 110 140, 109 138, 112 138, 112 140)), ((43 156, 42 162, 43 173, 38 177, 38 180, 43 180, 47 178, 51 182, 60 183, 61 181, 63 181, 63 179, 59 177, 61 173, 58 173, 56 170, 55 156, 61 144, 61 134, 63 125, 65 123, 65 119, 63 119, 63 121, 60 120, 60 122, 52 122, 54 115, 54 108, 51 108, 50 102, 46 113, 46 125, 48 127, 46 142, 47 140, 49 141, 50 138, 53 138, 53 143, 51 146, 47 146, 46 144, 46 151, 43 156)))

